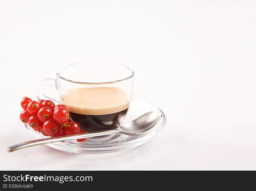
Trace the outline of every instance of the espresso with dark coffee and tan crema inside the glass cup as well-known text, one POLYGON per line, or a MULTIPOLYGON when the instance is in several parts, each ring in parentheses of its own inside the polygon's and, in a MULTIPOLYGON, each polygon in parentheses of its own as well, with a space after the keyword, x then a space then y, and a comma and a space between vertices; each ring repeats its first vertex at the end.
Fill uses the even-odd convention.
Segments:
POLYGON ((62 102, 86 132, 118 128, 129 107, 126 92, 116 87, 74 88, 62 102))

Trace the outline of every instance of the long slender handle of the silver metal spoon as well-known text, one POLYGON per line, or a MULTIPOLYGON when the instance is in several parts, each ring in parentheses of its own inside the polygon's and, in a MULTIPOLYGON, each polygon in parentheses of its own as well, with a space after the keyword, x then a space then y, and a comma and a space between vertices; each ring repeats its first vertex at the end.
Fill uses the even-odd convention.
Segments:
POLYGON ((94 133, 81 133, 77 135, 66 135, 66 136, 60 136, 60 137, 54 137, 54 138, 38 139, 38 140, 27 141, 27 142, 22 142, 19 144, 12 145, 7 148, 7 152, 13 152, 19 149, 24 149, 26 147, 32 147, 40 144, 48 144, 48 143, 61 142, 61 141, 67 141, 67 140, 73 140, 73 139, 110 135, 115 133, 121 133, 121 131, 119 131, 118 129, 112 129, 112 130, 106 130, 106 131, 98 131, 94 133))

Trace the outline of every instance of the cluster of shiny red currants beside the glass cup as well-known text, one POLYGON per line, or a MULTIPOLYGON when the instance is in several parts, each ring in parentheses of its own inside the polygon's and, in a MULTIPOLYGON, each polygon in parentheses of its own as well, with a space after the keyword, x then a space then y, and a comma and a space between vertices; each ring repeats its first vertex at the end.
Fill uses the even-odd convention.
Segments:
MULTIPOLYGON (((24 97, 20 104, 24 109, 19 115, 20 120, 45 136, 85 133, 77 122, 70 120, 70 113, 63 104, 55 106, 51 100, 32 101, 29 97, 24 97)), ((77 139, 78 142, 85 140, 86 138, 77 139)))

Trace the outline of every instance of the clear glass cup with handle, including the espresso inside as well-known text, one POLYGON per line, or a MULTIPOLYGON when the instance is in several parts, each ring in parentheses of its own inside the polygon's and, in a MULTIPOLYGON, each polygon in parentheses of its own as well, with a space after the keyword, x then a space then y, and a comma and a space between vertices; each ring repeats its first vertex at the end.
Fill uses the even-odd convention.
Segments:
POLYGON ((127 66, 104 63, 77 63, 46 78, 36 86, 38 99, 49 100, 43 88, 58 91, 59 100, 70 111, 72 121, 86 132, 116 129, 125 118, 132 97, 134 71, 127 66))

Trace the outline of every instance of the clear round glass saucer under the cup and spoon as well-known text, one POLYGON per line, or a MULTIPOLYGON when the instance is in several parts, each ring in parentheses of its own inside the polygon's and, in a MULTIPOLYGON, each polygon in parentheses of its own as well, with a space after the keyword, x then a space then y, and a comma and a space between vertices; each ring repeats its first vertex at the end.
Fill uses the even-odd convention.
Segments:
MULTIPOLYGON (((130 121, 149 111, 159 111, 162 114, 162 117, 160 121, 148 133, 143 135, 129 136, 120 133, 115 135, 106 135, 104 137, 87 138, 85 142, 77 142, 77 140, 71 140, 65 142, 50 143, 46 145, 54 149, 71 153, 107 153, 138 147, 152 139, 163 128, 163 126, 166 124, 165 114, 161 109, 152 105, 151 103, 133 99, 131 101, 131 105, 126 114, 126 117, 122 123, 129 123, 130 121)), ((39 139, 49 138, 45 137, 37 131, 34 131, 28 124, 25 124, 25 127, 29 133, 39 139)))

